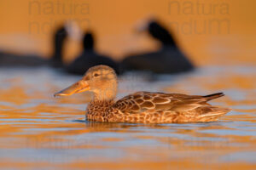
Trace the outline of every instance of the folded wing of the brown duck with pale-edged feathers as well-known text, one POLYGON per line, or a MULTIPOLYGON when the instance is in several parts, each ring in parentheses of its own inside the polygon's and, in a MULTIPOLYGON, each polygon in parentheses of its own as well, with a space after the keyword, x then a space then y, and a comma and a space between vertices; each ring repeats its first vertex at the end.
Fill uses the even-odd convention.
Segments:
POLYGON ((148 110, 190 111, 207 104, 207 101, 223 96, 211 94, 207 96, 186 94, 164 94, 137 92, 119 99, 114 107, 122 112, 139 113, 148 110))

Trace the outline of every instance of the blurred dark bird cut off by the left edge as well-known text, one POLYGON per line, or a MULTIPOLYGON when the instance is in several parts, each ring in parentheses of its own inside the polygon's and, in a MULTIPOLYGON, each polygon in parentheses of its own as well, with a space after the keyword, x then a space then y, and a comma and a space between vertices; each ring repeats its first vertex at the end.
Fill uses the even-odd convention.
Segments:
POLYGON ((0 52, 0 66, 15 66, 15 67, 32 67, 50 65, 59 67, 63 65, 62 52, 64 42, 67 39, 67 27, 61 26, 57 28, 53 36, 54 53, 50 59, 45 59, 44 56, 33 54, 12 54, 8 52, 0 52))

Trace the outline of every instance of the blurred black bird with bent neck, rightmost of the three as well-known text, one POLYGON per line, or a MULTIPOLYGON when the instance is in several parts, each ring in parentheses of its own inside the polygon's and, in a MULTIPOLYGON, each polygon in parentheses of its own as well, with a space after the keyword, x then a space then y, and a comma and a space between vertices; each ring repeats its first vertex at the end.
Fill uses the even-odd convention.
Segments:
POLYGON ((150 20, 140 26, 138 32, 147 31, 149 36, 160 42, 160 49, 145 54, 131 54, 120 63, 122 71, 150 71, 157 74, 176 74, 193 71, 195 66, 178 48, 176 39, 159 20, 150 20))

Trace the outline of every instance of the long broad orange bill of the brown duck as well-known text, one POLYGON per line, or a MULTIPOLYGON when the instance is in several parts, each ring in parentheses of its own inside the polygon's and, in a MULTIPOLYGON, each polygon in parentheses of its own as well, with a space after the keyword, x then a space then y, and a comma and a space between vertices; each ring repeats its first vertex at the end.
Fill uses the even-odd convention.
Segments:
POLYGON ((81 92, 85 92, 88 90, 90 90, 90 86, 89 86, 88 82, 86 82, 84 80, 80 80, 79 82, 74 83, 70 87, 63 89, 58 93, 55 93, 54 96, 57 97, 57 96, 67 96, 67 95, 72 95, 72 94, 79 94, 81 92))

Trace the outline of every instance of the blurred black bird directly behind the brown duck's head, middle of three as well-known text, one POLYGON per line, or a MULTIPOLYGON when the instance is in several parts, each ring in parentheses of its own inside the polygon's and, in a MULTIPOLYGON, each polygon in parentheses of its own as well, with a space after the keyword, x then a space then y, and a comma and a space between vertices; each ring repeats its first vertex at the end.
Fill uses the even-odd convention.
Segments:
POLYGON ((108 65, 119 74, 119 65, 106 55, 98 54, 95 50, 95 37, 92 32, 87 31, 83 37, 83 52, 74 59, 66 69, 68 73, 84 75, 84 73, 95 65, 108 65))

